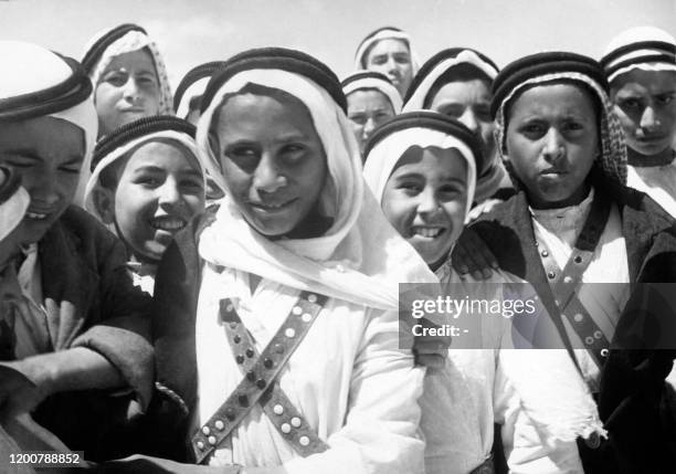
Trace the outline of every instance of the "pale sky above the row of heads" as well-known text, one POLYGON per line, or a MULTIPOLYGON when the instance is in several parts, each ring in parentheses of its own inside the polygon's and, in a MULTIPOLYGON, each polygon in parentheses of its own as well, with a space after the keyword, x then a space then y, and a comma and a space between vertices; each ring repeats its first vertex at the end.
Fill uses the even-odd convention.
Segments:
POLYGON ((76 59, 98 31, 125 22, 156 40, 175 88, 197 64, 267 45, 308 52, 342 77, 359 42, 383 25, 408 31, 421 62, 451 46, 500 67, 546 50, 599 57, 630 27, 676 35, 676 0, 0 0, 0 39, 76 59))

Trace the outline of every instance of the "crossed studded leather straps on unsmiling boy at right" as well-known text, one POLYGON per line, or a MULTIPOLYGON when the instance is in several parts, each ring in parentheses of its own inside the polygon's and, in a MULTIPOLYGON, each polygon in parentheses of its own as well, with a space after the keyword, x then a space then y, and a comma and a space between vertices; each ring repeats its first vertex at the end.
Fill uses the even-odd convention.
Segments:
MULTIPOLYGON (((610 217, 610 202, 602 196, 596 194, 563 271, 557 265, 547 245, 542 242, 538 243, 542 265, 561 316, 568 319, 575 334, 584 341, 585 348, 599 367, 603 366, 610 343, 580 302, 577 291, 582 285, 582 275, 589 267, 594 250, 601 240, 601 234, 610 217)), ((567 337, 566 335, 562 336, 567 337)), ((578 365, 574 357, 573 361, 578 365)))

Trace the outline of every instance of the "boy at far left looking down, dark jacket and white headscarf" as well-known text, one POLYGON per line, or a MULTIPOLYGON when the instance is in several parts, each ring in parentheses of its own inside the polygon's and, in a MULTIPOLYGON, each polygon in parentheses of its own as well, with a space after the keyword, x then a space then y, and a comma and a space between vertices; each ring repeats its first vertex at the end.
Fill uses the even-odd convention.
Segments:
POLYGON ((24 246, 11 263, 18 292, 7 316, 15 340, 4 366, 33 383, 3 379, 2 414, 33 412, 73 449, 97 455, 108 408, 128 398, 59 392, 130 387, 141 405, 148 402, 151 348, 140 335, 148 301, 131 285, 122 244, 71 206, 96 139, 88 77, 75 61, 29 43, 0 42, 0 59, 7 65, 0 164, 21 176, 31 197, 21 224, 24 246), (134 360, 120 360, 118 350, 134 360))

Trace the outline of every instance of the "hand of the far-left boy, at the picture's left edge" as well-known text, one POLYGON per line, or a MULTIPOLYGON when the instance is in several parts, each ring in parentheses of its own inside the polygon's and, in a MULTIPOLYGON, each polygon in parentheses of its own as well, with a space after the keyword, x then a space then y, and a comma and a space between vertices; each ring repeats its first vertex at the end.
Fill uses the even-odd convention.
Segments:
POLYGON ((29 359, 0 365, 0 423, 32 412, 50 394, 46 373, 29 359))

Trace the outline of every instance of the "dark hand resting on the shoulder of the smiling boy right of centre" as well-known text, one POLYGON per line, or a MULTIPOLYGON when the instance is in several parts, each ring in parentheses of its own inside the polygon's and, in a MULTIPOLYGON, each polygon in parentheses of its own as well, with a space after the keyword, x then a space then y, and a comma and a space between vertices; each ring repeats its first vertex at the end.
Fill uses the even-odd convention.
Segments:
POLYGON ((475 280, 488 280, 498 270, 497 259, 482 238, 471 228, 465 228, 457 240, 451 264, 461 275, 472 274, 475 280))

